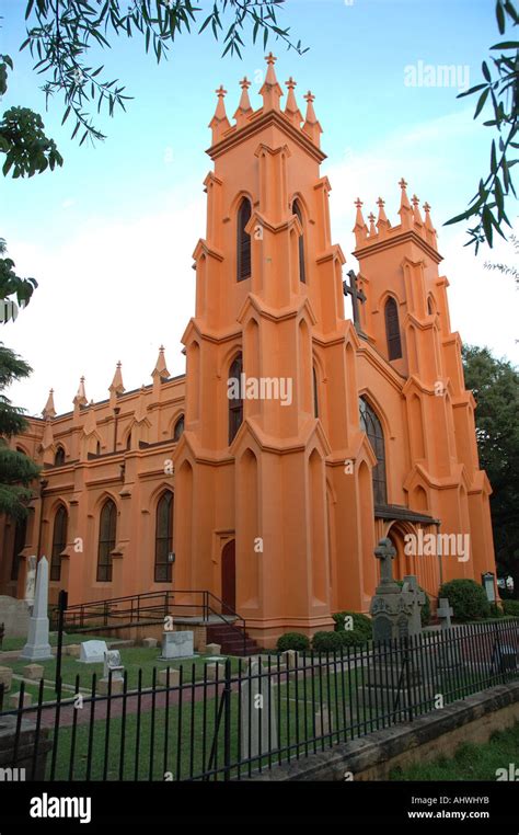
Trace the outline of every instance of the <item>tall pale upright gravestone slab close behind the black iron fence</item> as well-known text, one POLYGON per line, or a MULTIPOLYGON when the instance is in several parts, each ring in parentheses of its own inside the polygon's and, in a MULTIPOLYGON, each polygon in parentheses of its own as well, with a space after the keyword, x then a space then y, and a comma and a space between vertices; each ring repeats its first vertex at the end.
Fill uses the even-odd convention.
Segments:
POLYGON ((240 701, 242 758, 258 757, 275 751, 278 736, 274 685, 256 659, 251 661, 249 674, 242 678, 240 701))

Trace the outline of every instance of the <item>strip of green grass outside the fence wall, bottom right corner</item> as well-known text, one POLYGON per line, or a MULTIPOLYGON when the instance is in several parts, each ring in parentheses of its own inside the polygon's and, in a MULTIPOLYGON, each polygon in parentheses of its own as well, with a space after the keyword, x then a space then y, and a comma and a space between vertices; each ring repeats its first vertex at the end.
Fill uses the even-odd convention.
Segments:
POLYGON ((453 757, 439 757, 431 763, 395 768, 391 780, 495 780, 499 768, 517 763, 519 722, 506 731, 495 732, 487 743, 464 743, 453 757))

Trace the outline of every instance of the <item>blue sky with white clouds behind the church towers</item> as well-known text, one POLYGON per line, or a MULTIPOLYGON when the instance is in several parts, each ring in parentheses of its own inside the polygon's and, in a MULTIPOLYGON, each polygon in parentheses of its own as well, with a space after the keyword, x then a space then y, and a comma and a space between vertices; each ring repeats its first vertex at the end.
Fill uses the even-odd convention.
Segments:
MULTIPOLYGON (((209 9, 212 0, 197 5, 209 9)), ((452 329, 464 342, 517 362, 514 281, 484 268, 488 260, 511 263, 511 245, 482 248, 475 258, 464 247, 463 225, 443 227, 488 170, 491 130, 474 122, 474 98, 457 96, 480 83, 481 62, 500 39, 494 7, 494 0, 287 0, 279 24, 310 48, 299 56, 272 39, 268 49, 278 57, 284 90, 289 76, 298 82, 301 111, 303 94, 311 89, 315 95, 332 237, 346 270, 357 267, 349 254, 354 201, 364 201, 366 216, 382 196, 394 225, 404 176, 410 196, 432 207, 452 329), (455 68, 448 83, 446 66, 455 68)), ((127 390, 150 382, 161 343, 170 374, 184 373, 181 338, 194 312, 192 255, 205 235, 215 90, 223 83, 229 91, 231 117, 239 80, 247 75, 252 105, 261 106, 265 53, 249 31, 242 60, 221 58, 222 45, 209 30, 180 37, 160 66, 138 38, 92 50, 92 66, 104 64, 106 76, 134 98, 126 113, 96 118, 107 135, 103 142, 79 147, 70 139, 73 123, 61 125, 62 102, 45 110, 44 77, 30 54, 19 52, 24 9, 24 0, 0 2, 0 53, 14 60, 2 112, 15 105, 41 112, 65 164, 27 180, 0 180, 0 237, 18 274, 38 282, 30 306, 2 325, 2 340, 33 368, 9 397, 39 414, 54 388, 61 413, 71 409, 82 375, 89 400, 105 398, 119 359, 127 390)), ((508 208, 517 229, 517 203, 508 208)))

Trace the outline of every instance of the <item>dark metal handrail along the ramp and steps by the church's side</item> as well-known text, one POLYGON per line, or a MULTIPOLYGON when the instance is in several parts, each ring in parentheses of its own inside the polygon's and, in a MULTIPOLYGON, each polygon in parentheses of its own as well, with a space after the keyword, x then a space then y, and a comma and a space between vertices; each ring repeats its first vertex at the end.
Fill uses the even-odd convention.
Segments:
MULTIPOLYGON (((53 610, 57 621, 58 607, 53 610)), ((68 606, 64 613, 64 628, 73 632, 99 632, 103 629, 128 629, 135 626, 164 624, 171 618, 171 628, 178 618, 210 618, 217 622, 230 622, 243 632, 243 651, 246 650, 246 624, 238 611, 207 590, 180 590, 145 592, 125 597, 108 597, 68 606), (237 622, 238 621, 238 622, 237 622)))

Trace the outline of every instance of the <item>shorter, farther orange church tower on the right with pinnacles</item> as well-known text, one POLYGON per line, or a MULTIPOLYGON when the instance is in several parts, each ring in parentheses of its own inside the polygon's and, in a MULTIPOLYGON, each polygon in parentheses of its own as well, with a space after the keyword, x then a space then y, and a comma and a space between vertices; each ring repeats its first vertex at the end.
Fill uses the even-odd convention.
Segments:
MULTIPOLYGON (((475 401, 464 386, 461 339, 452 333, 446 276, 437 233, 425 203, 408 198, 400 181, 400 222, 392 226, 378 201, 378 218, 357 201, 354 228, 366 302, 360 322, 366 341, 402 377, 410 466, 404 479, 406 505, 439 521, 438 531, 469 535, 469 553, 439 556, 442 582, 457 576, 477 582, 493 568, 488 496, 491 485, 478 468, 475 401)), ((414 567, 419 573, 419 567, 414 567)))

